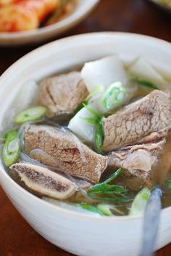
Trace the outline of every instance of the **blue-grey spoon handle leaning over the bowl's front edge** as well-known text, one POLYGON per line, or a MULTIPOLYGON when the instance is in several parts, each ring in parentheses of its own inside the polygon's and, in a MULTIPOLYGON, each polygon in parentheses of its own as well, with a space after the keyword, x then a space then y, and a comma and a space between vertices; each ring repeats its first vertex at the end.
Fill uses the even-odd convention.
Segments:
POLYGON ((154 246, 159 228, 159 217, 162 209, 162 191, 159 187, 154 187, 146 205, 143 217, 143 244, 140 256, 154 255, 154 246))

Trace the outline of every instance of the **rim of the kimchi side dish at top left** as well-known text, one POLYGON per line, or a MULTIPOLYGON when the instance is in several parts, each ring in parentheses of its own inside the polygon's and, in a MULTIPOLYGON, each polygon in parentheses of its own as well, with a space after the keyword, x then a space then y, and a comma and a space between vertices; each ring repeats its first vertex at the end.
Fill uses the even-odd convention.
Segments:
MULTIPOLYGON (((62 20, 59 20, 57 23, 48 25, 46 27, 33 29, 30 31, 19 31, 19 32, 0 32, 0 40, 1 39, 25 39, 29 36, 41 36, 46 33, 51 33, 53 31, 63 31, 67 27, 71 27, 74 25, 77 21, 82 20, 83 17, 85 17, 89 12, 91 12, 91 9, 93 9, 96 4, 99 3, 100 0, 88 0, 84 1, 83 4, 78 4, 78 7, 74 12, 72 12, 67 17, 64 17, 62 20), (81 8, 82 5, 84 5, 84 8, 81 8)), ((81 1, 80 1, 81 2, 81 1)))

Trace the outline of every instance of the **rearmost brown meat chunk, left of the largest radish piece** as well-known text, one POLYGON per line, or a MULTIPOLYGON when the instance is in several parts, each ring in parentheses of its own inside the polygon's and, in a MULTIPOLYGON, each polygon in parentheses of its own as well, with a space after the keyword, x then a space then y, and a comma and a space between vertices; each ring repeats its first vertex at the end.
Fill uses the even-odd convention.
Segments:
POLYGON ((40 84, 40 102, 55 116, 73 113, 87 95, 88 89, 77 71, 43 79, 40 84))

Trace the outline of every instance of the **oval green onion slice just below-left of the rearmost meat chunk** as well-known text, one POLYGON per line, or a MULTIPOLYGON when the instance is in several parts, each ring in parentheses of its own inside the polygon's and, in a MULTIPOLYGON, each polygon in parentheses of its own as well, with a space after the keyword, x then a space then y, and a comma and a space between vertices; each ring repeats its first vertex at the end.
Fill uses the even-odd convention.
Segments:
POLYGON ((15 119, 14 122, 16 124, 23 124, 26 121, 36 121, 38 119, 41 119, 46 113, 46 108, 42 106, 34 107, 34 108, 28 108, 25 111, 22 111, 19 113, 15 119))

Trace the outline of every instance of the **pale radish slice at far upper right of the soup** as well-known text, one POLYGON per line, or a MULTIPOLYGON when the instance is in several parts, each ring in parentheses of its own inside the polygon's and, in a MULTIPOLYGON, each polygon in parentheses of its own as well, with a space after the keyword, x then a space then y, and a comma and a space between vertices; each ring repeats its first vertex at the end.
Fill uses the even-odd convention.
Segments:
POLYGON ((138 58, 128 68, 128 73, 133 77, 151 81, 154 84, 164 84, 164 78, 145 60, 143 57, 138 58))

